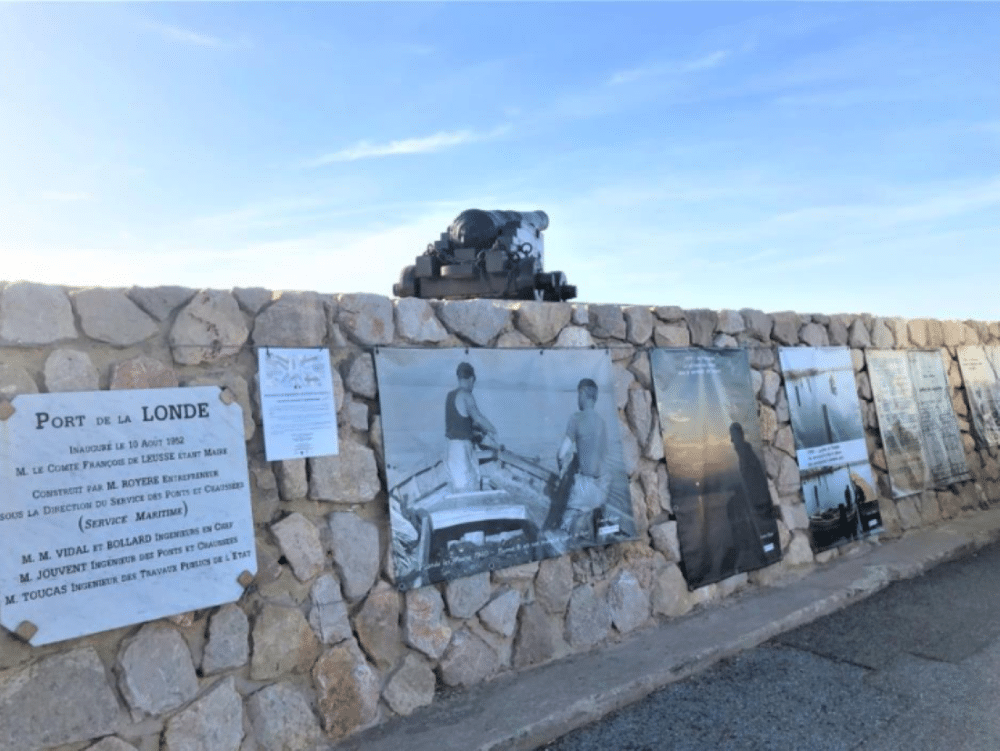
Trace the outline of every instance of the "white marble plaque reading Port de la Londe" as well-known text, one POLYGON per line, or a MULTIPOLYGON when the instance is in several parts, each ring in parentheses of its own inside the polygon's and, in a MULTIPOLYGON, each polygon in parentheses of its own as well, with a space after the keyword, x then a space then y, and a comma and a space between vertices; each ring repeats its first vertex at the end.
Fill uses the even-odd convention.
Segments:
POLYGON ((257 570, 253 516, 242 411, 220 396, 14 398, 0 421, 0 624, 40 645, 239 599, 257 570))

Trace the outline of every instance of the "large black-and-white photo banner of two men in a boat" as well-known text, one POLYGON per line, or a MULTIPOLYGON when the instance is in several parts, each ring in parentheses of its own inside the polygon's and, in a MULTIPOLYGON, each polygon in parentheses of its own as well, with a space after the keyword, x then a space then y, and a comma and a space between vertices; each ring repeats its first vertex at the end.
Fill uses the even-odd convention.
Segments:
POLYGON ((607 350, 375 352, 396 584, 635 539, 607 350))

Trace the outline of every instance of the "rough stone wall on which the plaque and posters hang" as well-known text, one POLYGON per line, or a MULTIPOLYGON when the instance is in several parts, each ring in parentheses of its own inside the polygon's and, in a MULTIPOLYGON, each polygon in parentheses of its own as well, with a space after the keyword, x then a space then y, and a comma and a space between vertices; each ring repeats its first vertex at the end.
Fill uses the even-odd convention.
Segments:
MULTIPOLYGON (((0 747, 300 749, 464 687, 780 584, 876 541, 814 555, 781 345, 851 347, 886 536, 1000 499, 956 361, 1000 324, 568 303, 429 303, 367 294, 0 285, 0 398, 218 384, 244 411, 258 575, 234 604, 32 648, 0 630, 0 747), (255 348, 329 348, 341 453, 264 459, 255 348), (372 348, 607 347, 639 541, 400 594, 392 584, 372 348), (650 380, 650 347, 746 347, 784 560, 688 592, 650 380), (865 349, 940 348, 974 480, 889 500, 865 349)), ((2 492, 2 489, 0 489, 2 492)))

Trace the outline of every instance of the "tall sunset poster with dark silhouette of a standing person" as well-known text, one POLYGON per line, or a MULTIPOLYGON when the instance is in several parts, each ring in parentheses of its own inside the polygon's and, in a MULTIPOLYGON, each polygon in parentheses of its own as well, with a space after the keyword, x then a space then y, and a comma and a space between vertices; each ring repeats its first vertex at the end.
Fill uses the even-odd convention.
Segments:
POLYGON ((650 363, 688 587, 780 560, 746 350, 654 349, 650 363))

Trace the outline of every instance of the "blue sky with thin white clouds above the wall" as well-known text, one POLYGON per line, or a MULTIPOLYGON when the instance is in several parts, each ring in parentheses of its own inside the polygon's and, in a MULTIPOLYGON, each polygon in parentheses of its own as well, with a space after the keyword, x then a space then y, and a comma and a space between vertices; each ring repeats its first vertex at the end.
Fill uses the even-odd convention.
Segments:
POLYGON ((1000 319, 1000 4, 0 3, 0 278, 1000 319))

